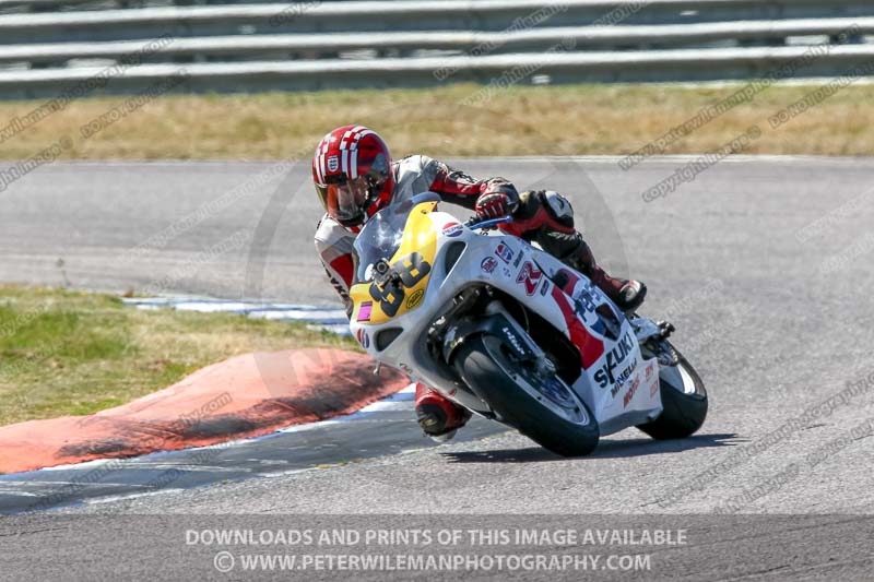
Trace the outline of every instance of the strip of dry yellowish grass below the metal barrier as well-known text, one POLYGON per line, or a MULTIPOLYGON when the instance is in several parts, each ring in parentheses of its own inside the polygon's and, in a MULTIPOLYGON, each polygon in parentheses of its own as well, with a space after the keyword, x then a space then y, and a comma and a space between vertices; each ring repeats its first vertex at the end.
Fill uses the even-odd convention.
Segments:
MULTIPOLYGON (((714 150, 759 123, 764 134, 745 153, 874 155, 872 85, 848 86, 792 122, 768 127, 769 116, 817 86, 771 86, 671 144, 665 153, 714 150)), ((26 159, 62 136, 72 139, 60 156, 66 159, 308 158, 327 131, 345 123, 377 129, 395 156, 627 154, 739 88, 519 85, 470 106, 459 103, 482 86, 169 95, 85 140, 79 128, 125 100, 86 98, 5 140, 0 158, 26 159)), ((0 128, 42 103, 0 103, 0 128)))

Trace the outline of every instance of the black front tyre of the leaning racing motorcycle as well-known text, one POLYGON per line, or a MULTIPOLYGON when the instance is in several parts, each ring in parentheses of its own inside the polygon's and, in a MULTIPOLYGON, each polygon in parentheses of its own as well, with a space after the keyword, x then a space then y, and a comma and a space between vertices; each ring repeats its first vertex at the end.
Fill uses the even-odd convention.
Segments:
POLYGON ((459 346, 452 364, 464 383, 504 423, 544 449, 562 456, 592 452, 600 430, 586 403, 557 378, 539 381, 535 373, 506 354, 500 338, 475 335, 459 346))

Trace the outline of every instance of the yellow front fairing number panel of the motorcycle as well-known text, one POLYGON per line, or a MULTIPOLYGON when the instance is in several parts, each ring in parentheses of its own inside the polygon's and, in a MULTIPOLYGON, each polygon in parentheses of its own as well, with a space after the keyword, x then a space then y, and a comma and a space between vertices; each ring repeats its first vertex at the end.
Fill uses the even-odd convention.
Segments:
MULTIPOLYGON (((392 266, 394 266, 398 261, 409 258, 413 252, 417 252, 422 256, 422 259, 428 264, 428 266, 433 268, 434 258, 437 254, 437 228, 435 228, 434 223, 428 217, 428 214, 430 214, 436 207, 437 202, 423 202, 422 204, 417 204, 410 213, 410 216, 406 218, 406 226, 404 226, 403 229, 401 246, 398 248, 398 252, 395 252, 389 261, 392 266)), ((352 289, 350 289, 350 297, 354 304, 352 320, 359 321, 362 323, 378 324, 403 316, 408 311, 411 311, 422 305, 422 301, 425 297, 425 287, 428 286, 429 278, 430 271, 428 271, 428 274, 422 277, 412 287, 404 287, 403 301, 398 307, 398 311, 393 316, 387 314, 382 310, 380 301, 371 296, 370 282, 353 285, 352 289), (370 308, 369 318, 365 312, 365 317, 363 319, 361 317, 362 304, 366 301, 371 301, 373 306, 370 308)))

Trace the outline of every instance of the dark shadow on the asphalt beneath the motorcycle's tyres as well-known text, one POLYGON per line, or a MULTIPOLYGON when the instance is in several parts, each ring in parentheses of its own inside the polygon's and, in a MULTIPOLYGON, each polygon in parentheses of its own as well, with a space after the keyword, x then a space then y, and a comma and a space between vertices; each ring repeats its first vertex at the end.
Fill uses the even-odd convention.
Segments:
MULTIPOLYGON (((734 447, 741 444, 737 435, 722 432, 716 435, 696 435, 687 439, 652 440, 647 438, 631 440, 602 440, 598 449, 588 459, 622 459, 627 456, 643 456, 648 454, 678 453, 693 449, 709 449, 713 447, 734 447)), ((440 453, 450 463, 532 463, 542 461, 563 461, 559 456, 542 447, 527 447, 524 449, 499 449, 495 451, 460 451, 440 453)))

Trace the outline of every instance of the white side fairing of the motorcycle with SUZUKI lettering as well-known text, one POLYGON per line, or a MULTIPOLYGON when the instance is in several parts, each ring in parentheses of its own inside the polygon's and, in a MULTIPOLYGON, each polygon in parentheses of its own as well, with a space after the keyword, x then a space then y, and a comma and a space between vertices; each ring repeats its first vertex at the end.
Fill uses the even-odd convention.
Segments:
MULTIPOLYGON (((444 212, 432 212, 429 217, 438 231, 450 223, 458 224, 454 216, 444 212)), ((423 340, 454 296, 472 283, 482 282, 523 302, 580 348, 583 370, 571 388, 595 416, 601 435, 651 420, 661 413, 658 361, 642 358, 629 321, 588 278, 513 236, 497 231, 484 236, 466 227, 460 231, 450 228, 448 234, 452 236, 438 235, 437 254, 420 307, 378 325, 350 323, 353 336, 359 336, 359 330, 366 334, 367 341, 362 345, 371 356, 474 412, 488 412, 482 401, 456 390, 451 380, 444 377, 430 361, 423 340), (459 241, 466 247, 447 273, 444 253, 449 244, 459 241), (570 295, 551 282, 559 271, 568 273, 569 283, 564 288, 570 295), (613 317, 595 312, 602 305, 607 307, 600 311, 610 309, 613 317), (371 338, 389 328, 403 328, 403 333, 379 352, 371 338)))

